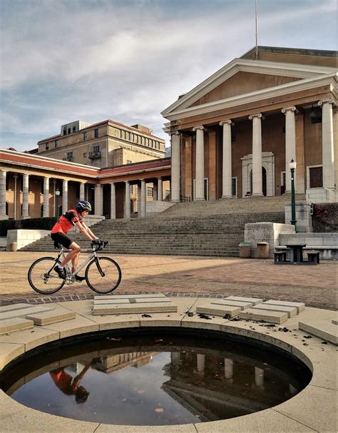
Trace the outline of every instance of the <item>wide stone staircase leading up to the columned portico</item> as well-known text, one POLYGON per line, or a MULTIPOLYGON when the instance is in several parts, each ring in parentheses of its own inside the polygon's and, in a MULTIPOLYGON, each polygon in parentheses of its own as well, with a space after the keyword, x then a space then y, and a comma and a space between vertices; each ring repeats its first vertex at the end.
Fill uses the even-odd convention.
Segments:
MULTIPOLYGON (((272 198, 275 199, 275 198, 272 198)), ((178 203, 158 216, 103 220, 93 233, 109 240, 107 253, 237 257, 246 223, 284 223, 285 200, 239 199, 178 203)), ((72 235, 83 250, 88 240, 72 235)), ((51 238, 37 240, 21 251, 54 250, 51 238)))

